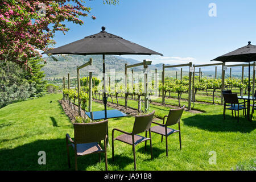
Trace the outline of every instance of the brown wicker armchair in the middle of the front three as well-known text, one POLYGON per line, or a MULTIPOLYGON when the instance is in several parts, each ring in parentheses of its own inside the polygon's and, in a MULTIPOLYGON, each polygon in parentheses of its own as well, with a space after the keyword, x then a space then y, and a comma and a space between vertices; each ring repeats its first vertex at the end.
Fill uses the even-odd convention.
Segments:
POLYGON ((122 131, 119 129, 112 130, 112 159, 113 160, 114 160, 114 140, 119 140, 121 142, 130 144, 133 146, 134 169, 137 169, 136 156, 135 156, 135 146, 137 146, 137 144, 145 142, 145 150, 146 150, 146 145, 147 145, 146 141, 150 140, 151 159, 153 158, 150 126, 151 126, 154 114, 155 114, 155 111, 152 111, 152 113, 146 114, 146 115, 137 115, 135 117, 133 131, 131 133, 127 133, 126 131, 122 131), (119 135, 117 138, 114 138, 114 131, 119 131, 123 134, 119 135), (141 135, 138 135, 140 133, 143 133, 144 131, 146 131, 146 137, 142 137, 141 135), (147 131, 149 131, 149 138, 147 138, 147 131))

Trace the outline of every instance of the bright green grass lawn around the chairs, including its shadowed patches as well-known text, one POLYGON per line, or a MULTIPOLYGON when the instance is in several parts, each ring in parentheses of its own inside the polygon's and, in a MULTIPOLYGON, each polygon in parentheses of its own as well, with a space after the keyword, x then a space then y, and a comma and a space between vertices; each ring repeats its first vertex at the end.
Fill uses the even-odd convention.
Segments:
MULTIPOLYGON (((0 109, 0 170, 74 170, 75 157, 71 148, 71 166, 68 168, 65 134, 73 138, 73 126, 58 100, 61 94, 51 94, 35 100, 17 102, 0 109), (38 152, 46 152, 46 165, 38 164, 38 152)), ((120 100, 120 102, 123 102, 120 100)), ((123 104, 123 103, 121 103, 123 104)), ((137 107, 136 101, 128 101, 137 107)), ((136 149, 138 170, 231 170, 256 168, 256 122, 249 122, 241 115, 240 123, 227 111, 224 120, 223 106, 196 104, 206 113, 184 112, 181 119, 182 150, 179 136, 168 137, 166 157, 165 141, 152 133, 154 159, 150 159, 144 144, 136 149), (209 164, 210 151, 217 155, 216 164, 209 164)), ((102 104, 93 102, 93 110, 103 110, 102 104)), ((150 105, 162 118, 169 108, 150 105)), ((254 118, 255 119, 255 118, 254 118)), ((159 121, 162 122, 162 121, 159 121)), ((130 132, 134 117, 109 119, 109 133, 113 128, 130 132)), ((177 129, 177 126, 174 126, 177 129)), ((117 136, 120 133, 115 133, 117 136)), ((144 135, 144 134, 143 134, 144 135)), ((109 170, 133 170, 133 151, 128 144, 115 141, 115 160, 112 161, 112 144, 108 147, 109 170)), ((102 154, 104 160, 104 154, 102 154)), ((79 170, 105 170, 98 155, 78 158, 79 170)))

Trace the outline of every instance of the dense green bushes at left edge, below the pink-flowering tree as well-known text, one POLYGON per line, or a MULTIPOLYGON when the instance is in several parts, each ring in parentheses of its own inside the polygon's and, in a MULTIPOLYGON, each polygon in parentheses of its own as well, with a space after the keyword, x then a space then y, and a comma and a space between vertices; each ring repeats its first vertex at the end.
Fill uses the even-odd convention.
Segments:
POLYGON ((28 98, 42 97, 46 93, 43 64, 40 59, 28 60, 31 71, 11 61, 0 61, 0 107, 28 98))

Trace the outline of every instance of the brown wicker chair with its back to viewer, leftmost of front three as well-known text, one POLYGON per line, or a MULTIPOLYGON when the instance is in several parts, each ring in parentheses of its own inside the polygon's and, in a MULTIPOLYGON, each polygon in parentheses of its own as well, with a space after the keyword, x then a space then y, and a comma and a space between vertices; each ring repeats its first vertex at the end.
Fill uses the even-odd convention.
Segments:
MULTIPOLYGON (((77 156, 88 154, 105 153, 105 167, 108 170, 108 159, 106 152, 106 132, 108 128, 108 120, 95 123, 74 123, 75 139, 72 140, 69 134, 66 134, 66 144, 68 151, 68 167, 70 168, 69 146, 75 150, 75 169, 77 171, 77 156), (104 150, 100 144, 104 140, 104 150), (70 142, 70 144, 69 144, 70 142)), ((99 154, 101 162, 101 155, 99 154)))

